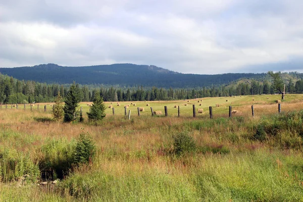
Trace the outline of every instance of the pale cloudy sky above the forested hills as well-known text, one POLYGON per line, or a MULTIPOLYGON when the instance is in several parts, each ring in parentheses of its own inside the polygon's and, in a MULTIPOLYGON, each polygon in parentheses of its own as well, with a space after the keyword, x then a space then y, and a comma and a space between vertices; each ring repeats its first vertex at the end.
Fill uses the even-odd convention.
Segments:
POLYGON ((302 0, 0 0, 0 67, 303 72, 302 0))

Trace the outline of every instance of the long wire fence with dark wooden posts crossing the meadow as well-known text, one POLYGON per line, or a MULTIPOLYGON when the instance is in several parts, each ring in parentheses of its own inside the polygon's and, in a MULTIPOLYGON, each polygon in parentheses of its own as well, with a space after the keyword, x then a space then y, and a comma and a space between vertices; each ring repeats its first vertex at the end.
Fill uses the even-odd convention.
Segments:
MULTIPOLYGON (((50 112, 52 111, 52 104, 36 104, 36 105, 0 105, 0 109, 16 109, 16 110, 24 110, 24 111, 33 111, 38 110, 42 112, 50 112)), ((209 107, 200 107, 199 105, 189 105, 189 106, 162 106, 164 113, 162 113, 161 108, 158 106, 156 110, 153 107, 147 106, 145 107, 145 111, 142 110, 142 107, 133 107, 132 109, 128 109, 128 106, 120 107, 119 110, 111 107, 110 112, 107 111, 107 115, 112 114, 123 115, 130 119, 131 111, 135 112, 132 116, 165 116, 165 117, 193 117, 193 118, 219 118, 219 117, 260 117, 267 116, 278 113, 286 113, 290 111, 296 111, 303 109, 303 102, 283 102, 283 103, 275 103, 275 104, 254 104, 254 105, 219 105, 216 104, 214 106, 209 107), (121 113, 123 110, 123 114, 121 113), (118 113, 117 113, 118 111, 118 113), (136 113, 137 112, 137 113, 136 113), (137 115, 136 115, 137 114, 137 115)), ((89 112, 90 108, 82 109, 79 108, 81 112, 89 112)))

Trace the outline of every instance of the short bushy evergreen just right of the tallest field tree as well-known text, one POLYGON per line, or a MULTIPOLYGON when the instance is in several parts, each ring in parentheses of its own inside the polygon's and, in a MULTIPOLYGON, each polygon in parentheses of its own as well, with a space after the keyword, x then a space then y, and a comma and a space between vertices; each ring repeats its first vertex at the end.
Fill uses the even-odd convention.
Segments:
POLYGON ((106 106, 103 103, 103 98, 96 96, 93 100, 90 112, 87 112, 88 120, 102 120, 105 117, 106 106))

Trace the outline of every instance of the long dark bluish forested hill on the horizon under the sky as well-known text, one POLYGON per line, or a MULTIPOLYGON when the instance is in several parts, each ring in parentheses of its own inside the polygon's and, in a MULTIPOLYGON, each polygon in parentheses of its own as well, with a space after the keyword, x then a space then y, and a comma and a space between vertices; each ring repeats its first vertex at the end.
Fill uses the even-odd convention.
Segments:
POLYGON ((63 67, 56 64, 33 67, 0 68, 2 74, 20 80, 46 83, 105 84, 121 86, 156 86, 164 88, 194 88, 222 85, 247 78, 260 79, 265 73, 228 73, 217 75, 182 74, 148 65, 113 64, 87 67, 63 67))

